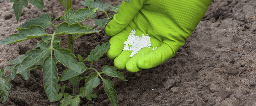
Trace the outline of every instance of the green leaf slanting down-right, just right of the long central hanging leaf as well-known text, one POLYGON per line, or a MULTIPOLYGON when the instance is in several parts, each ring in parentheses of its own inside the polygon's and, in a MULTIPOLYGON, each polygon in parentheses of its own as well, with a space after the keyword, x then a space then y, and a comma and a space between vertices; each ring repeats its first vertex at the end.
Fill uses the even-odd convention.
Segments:
POLYGON ((69 49, 55 48, 54 50, 54 55, 60 63, 75 72, 81 73, 78 61, 76 60, 75 55, 70 53, 69 49))

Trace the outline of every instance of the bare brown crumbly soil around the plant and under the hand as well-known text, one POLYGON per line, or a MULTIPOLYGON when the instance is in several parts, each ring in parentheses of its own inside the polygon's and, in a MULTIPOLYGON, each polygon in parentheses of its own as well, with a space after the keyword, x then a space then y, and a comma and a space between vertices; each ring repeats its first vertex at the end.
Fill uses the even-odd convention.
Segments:
MULTIPOLYGON (((82 0, 80 0, 82 1, 82 0)), ((73 8, 84 8, 80 1, 73 1, 73 8)), ((111 5, 122 0, 103 0, 111 5)), ((16 22, 12 2, 0 3, 0 40, 17 33, 15 27, 26 20, 49 14, 52 20, 61 16, 64 7, 57 0, 44 0, 40 11, 31 4, 24 7, 19 23, 16 22)), ((130 73, 119 70, 128 80, 110 78, 113 82, 119 106, 256 106, 256 1, 255 0, 213 0, 209 9, 193 34, 176 56, 151 69, 130 73), (227 92, 224 92, 227 91, 227 92), (230 94, 229 94, 230 93, 230 94), (227 95, 229 94, 229 95, 227 95), (227 97, 226 97, 227 96, 227 97), (224 98, 224 99, 223 99, 224 98)), ((98 18, 104 14, 97 13, 98 18)), ((55 20, 57 25, 63 21, 55 20)), ((85 23, 93 25, 92 21, 85 23)), ((89 55, 97 44, 108 42, 102 31, 81 37, 75 42, 75 55, 83 58, 89 55)), ((53 33, 54 28, 46 29, 53 33)), ((41 38, 0 45, 0 68, 11 66, 8 60, 33 49, 41 38)), ((66 36, 62 36, 63 48, 67 48, 66 36)), ((90 66, 89 62, 85 62, 90 66)), ((104 65, 113 66, 113 59, 103 55, 94 63, 97 70, 104 65)), ((59 73, 66 68, 58 65, 59 73)), ((9 74, 6 73, 5 76, 9 74)), ((60 86, 69 82, 60 82, 60 86)), ((81 81, 81 86, 84 81, 81 81)), ((67 92, 71 90, 67 89, 67 92)), ((94 89, 98 98, 92 101, 81 99, 82 104, 111 106, 100 84, 94 89)), ((42 70, 31 72, 29 80, 16 76, 11 81, 9 98, 0 106, 58 106, 50 102, 44 92, 42 70)))

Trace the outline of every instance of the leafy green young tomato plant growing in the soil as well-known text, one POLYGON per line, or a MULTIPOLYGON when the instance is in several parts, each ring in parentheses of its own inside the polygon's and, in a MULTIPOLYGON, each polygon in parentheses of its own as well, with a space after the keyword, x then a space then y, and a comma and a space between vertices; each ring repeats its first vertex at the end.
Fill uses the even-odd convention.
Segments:
MULTIPOLYGON (((29 0, 33 5, 42 10, 43 0, 29 0)), ((117 106, 117 94, 114 90, 112 82, 103 78, 101 75, 104 73, 111 77, 117 77, 123 81, 127 81, 121 72, 116 71, 117 68, 113 66, 103 66, 101 72, 93 68, 94 61, 97 61, 107 50, 110 48, 110 43, 103 43, 97 45, 95 49, 92 49, 90 55, 87 58, 82 59, 78 54, 79 62, 74 55, 74 41, 86 34, 97 33, 99 30, 95 30, 96 27, 104 27, 107 21, 112 17, 111 13, 107 13, 106 9, 110 6, 110 3, 103 4, 102 1, 85 0, 81 2, 82 5, 87 8, 81 8, 74 12, 71 8, 71 0, 58 0, 66 9, 63 16, 56 19, 64 19, 65 21, 59 25, 51 23, 51 17, 47 14, 42 14, 39 17, 27 20, 22 25, 18 26, 19 33, 12 34, 9 37, 0 41, 1 45, 11 44, 15 42, 21 42, 36 37, 42 37, 42 41, 39 41, 34 49, 27 51, 26 54, 19 55, 16 59, 10 60, 12 66, 7 66, 6 70, 10 72, 4 78, 4 69, 0 70, 0 94, 2 102, 5 102, 10 92, 10 79, 14 80, 16 75, 21 75, 25 80, 30 77, 30 71, 42 69, 43 71, 43 84, 47 97, 51 102, 60 101, 60 106, 78 106, 80 105, 80 97, 86 97, 87 100, 97 98, 97 95, 92 94, 93 88, 100 84, 102 80, 105 92, 110 99, 113 106, 117 106), (96 11, 104 12, 107 18, 95 19, 96 11), (82 21, 87 18, 93 18, 95 26, 84 25, 82 21), (52 25, 55 28, 53 34, 47 34, 44 29, 52 25), (59 36, 67 36, 68 49, 61 48, 61 39, 59 36), (85 66, 84 61, 91 61, 89 67, 85 66), (64 70, 61 77, 58 77, 58 68, 56 64, 63 64, 68 67, 64 70), (33 68, 31 68, 33 67, 33 68), (89 70, 94 70, 89 76, 85 76, 89 70), (100 78, 99 78, 100 77, 100 78), (86 79, 84 87, 79 88, 79 82, 82 79, 86 79), (73 87, 66 87, 65 84, 60 87, 58 82, 69 80, 73 84, 73 87), (73 93, 65 93, 65 88, 73 89, 73 93), (59 90, 61 89, 61 93, 59 90)), ((128 1, 129 0, 125 0, 128 1)), ((11 0, 14 2, 13 9, 15 16, 18 19, 20 17, 23 6, 27 6, 26 0, 11 0), (17 7, 15 7, 17 6, 17 7)), ((119 5, 110 7, 111 11, 117 12, 119 5)), ((56 20, 54 19, 54 20, 56 20)))

